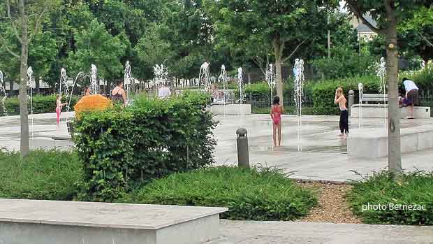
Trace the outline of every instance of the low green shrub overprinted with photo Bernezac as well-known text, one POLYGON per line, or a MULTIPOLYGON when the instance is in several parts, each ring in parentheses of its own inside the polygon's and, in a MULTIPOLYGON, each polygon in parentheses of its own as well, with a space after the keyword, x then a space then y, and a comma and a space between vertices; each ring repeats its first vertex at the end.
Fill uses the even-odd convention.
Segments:
POLYGON ((355 182, 348 201, 353 213, 369 224, 433 224, 433 172, 406 173, 393 181, 388 171, 374 173, 355 182), (388 206, 386 210, 368 208, 368 204, 388 206), (425 210, 390 210, 390 204, 418 204, 425 210), (364 211, 362 207, 364 206, 364 211))

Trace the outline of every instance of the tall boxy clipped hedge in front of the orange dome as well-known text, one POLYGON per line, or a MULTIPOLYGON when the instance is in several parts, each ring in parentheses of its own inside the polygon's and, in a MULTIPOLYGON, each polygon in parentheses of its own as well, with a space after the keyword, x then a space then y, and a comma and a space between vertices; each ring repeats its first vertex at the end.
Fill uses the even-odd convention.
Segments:
POLYGON ((79 199, 112 201, 131 186, 213 163, 208 94, 138 98, 130 108, 84 114, 75 145, 85 167, 79 199))

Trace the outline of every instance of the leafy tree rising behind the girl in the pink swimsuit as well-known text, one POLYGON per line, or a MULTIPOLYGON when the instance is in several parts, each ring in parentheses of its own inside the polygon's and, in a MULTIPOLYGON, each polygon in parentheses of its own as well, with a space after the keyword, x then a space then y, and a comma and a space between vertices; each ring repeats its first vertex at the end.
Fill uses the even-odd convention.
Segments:
POLYGON ((325 29, 325 9, 319 8, 313 0, 221 0, 216 4, 221 16, 216 22, 217 29, 223 30, 226 38, 235 38, 231 43, 244 38, 242 43, 249 44, 249 40, 256 39, 260 40, 259 47, 272 47, 277 95, 284 101, 281 65, 314 38, 312 33, 325 29))

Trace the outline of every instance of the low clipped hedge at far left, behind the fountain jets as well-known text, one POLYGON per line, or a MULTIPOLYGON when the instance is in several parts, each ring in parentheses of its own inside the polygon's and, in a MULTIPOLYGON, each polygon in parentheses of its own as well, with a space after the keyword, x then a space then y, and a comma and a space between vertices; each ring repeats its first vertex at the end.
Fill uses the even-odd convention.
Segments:
MULTIPOLYGON (((78 96, 73 96, 71 99, 71 108, 73 110, 73 106, 78 101, 78 96)), ((65 99, 63 99, 64 102, 65 99)), ((6 110, 8 110, 8 115, 19 115, 20 114, 20 101, 17 96, 6 99, 5 101, 6 110)), ((29 112, 31 109, 31 103, 28 102, 29 112)), ((0 106, 0 112, 3 108, 0 106)), ((33 97, 33 113, 55 113, 56 111, 56 96, 34 96, 33 97)), ((3 115, 3 113, 0 113, 3 115)))

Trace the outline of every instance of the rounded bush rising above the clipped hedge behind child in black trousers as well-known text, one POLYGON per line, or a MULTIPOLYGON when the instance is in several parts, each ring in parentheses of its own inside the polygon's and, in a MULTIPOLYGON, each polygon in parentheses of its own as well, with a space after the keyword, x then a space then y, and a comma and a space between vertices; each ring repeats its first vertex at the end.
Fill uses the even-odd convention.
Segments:
POLYGON ((378 60, 367 54, 359 55, 348 45, 333 47, 331 54, 331 58, 322 57, 311 62, 321 78, 337 79, 372 75, 374 64, 378 60))

